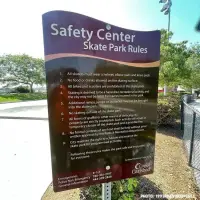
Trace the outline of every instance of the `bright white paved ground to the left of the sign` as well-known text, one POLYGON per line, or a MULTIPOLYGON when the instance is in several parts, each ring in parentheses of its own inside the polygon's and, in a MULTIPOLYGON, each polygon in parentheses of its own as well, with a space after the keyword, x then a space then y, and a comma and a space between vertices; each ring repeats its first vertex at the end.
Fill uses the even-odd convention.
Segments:
MULTIPOLYGON (((46 101, 0 105, 0 116, 47 117, 46 101)), ((0 199, 40 200, 50 184, 47 120, 0 119, 0 199)))

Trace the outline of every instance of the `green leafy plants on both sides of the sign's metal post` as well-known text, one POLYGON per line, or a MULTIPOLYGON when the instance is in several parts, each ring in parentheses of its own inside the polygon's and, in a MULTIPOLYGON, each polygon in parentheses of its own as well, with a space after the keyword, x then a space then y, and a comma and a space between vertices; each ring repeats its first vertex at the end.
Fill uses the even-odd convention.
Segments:
MULTIPOLYGON (((138 180, 136 178, 112 182, 112 200, 134 200, 137 186, 138 180)), ((101 185, 84 188, 82 193, 87 200, 102 199, 101 185)))

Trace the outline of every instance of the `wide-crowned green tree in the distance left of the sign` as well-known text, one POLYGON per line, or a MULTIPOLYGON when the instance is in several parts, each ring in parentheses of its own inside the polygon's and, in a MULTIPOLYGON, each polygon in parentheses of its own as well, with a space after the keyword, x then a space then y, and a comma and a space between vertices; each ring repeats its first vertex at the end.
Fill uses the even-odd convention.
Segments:
POLYGON ((28 55, 4 55, 0 57, 0 82, 26 85, 33 92, 34 84, 45 82, 44 61, 28 55))

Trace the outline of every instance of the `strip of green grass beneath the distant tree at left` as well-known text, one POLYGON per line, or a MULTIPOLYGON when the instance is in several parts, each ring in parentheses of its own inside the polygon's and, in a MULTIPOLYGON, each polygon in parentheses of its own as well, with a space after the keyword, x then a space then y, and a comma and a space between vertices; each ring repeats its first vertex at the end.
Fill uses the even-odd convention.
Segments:
POLYGON ((47 99, 46 93, 16 93, 0 95, 0 103, 47 99))

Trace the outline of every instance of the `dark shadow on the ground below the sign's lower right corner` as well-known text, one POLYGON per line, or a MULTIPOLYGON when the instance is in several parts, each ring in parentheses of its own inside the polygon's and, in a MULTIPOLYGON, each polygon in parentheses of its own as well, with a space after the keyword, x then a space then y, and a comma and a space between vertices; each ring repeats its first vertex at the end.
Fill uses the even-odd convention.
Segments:
POLYGON ((163 191, 158 188, 158 186, 150 181, 146 177, 139 177, 138 178, 139 184, 136 189, 136 197, 135 200, 168 200, 167 198, 164 198, 163 191), (149 195, 149 197, 147 197, 149 195))

